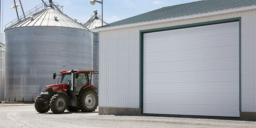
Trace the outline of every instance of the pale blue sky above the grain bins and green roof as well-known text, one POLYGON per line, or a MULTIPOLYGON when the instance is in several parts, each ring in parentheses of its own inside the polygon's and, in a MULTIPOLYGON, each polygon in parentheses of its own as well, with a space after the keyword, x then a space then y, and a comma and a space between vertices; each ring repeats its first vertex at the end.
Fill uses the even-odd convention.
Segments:
MULTIPOLYGON (((10 9, 13 0, 2 0, 4 2, 4 22, 3 25, 17 18, 15 9, 10 9)), ((44 0, 48 1, 48 0, 44 0)), ((72 19, 84 23, 93 14, 93 10, 97 9, 101 14, 101 4, 90 4, 90 0, 52 0, 60 5, 64 5, 63 12, 72 19)), ((145 12, 156 10, 164 6, 183 4, 198 0, 104 0, 103 2, 103 20, 107 23, 115 22, 145 12)), ((21 0, 25 12, 41 4, 41 0, 21 0)), ((16 0, 19 4, 19 0, 16 0)), ((2 11, 2 9, 1 9, 2 11)), ((22 15, 21 8, 18 9, 19 15, 22 15)), ((2 17, 1 17, 2 18, 2 17)), ((1 19, 2 24, 2 19, 1 19)), ((4 29, 4 28, 3 28, 4 29)), ((2 30, 1 30, 2 33, 2 30)))

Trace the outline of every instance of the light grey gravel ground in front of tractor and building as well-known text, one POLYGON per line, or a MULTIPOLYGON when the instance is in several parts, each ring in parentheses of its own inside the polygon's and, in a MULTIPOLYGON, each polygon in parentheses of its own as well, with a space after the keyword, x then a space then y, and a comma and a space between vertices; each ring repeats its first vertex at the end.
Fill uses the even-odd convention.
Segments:
POLYGON ((178 118, 164 116, 113 116, 96 112, 39 114, 34 104, 0 104, 0 128, 256 128, 256 122, 231 119, 178 118))

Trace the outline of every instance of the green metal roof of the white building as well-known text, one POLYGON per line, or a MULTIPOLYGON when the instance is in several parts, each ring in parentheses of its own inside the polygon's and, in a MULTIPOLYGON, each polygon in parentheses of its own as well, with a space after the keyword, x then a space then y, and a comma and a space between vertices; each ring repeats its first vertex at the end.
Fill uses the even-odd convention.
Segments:
POLYGON ((256 0, 202 0, 186 4, 178 4, 156 9, 124 20, 119 20, 98 28, 113 27, 125 24, 161 20, 174 17, 188 16, 206 12, 215 12, 256 5, 256 0))

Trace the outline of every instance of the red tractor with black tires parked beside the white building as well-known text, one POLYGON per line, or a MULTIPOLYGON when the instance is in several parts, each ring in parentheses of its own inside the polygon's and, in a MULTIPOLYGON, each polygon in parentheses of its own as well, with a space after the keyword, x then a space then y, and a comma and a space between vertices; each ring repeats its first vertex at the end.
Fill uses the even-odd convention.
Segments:
POLYGON ((95 71, 71 70, 60 71, 60 74, 53 74, 53 79, 60 76, 56 84, 45 86, 41 94, 36 97, 35 108, 39 113, 46 113, 50 110, 53 113, 68 111, 92 112, 98 106, 97 89, 91 85, 92 74, 95 71), (89 74, 91 78, 89 80, 89 74))

